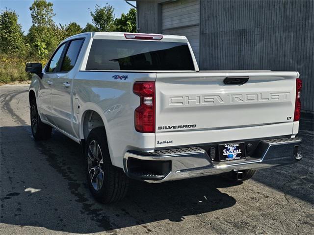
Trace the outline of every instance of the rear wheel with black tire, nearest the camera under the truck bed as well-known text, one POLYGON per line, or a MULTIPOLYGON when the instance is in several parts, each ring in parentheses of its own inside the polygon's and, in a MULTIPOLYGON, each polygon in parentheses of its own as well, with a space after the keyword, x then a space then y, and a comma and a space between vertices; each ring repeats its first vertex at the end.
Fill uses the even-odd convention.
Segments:
POLYGON ((129 178, 111 163, 104 127, 96 127, 89 133, 84 158, 88 186, 97 201, 112 203, 125 197, 129 178))

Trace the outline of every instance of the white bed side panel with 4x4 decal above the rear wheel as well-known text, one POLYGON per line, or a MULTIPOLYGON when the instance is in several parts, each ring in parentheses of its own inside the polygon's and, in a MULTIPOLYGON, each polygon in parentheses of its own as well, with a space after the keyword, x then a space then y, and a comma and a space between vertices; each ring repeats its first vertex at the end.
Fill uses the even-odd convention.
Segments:
POLYGON ((133 94, 135 81, 155 81, 156 73, 121 71, 78 71, 73 85, 73 128, 78 139, 84 139, 83 118, 88 110, 103 119, 113 165, 123 167, 123 156, 129 149, 151 151, 155 134, 135 131, 134 110, 140 98, 133 94), (115 79, 117 76, 124 78, 115 79), (125 77, 127 77, 125 79, 125 77))

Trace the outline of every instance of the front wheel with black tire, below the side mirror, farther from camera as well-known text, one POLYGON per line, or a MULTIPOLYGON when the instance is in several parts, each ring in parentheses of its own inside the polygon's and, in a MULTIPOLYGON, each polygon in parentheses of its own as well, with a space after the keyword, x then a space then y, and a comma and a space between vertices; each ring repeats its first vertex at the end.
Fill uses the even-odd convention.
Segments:
POLYGON ((30 123, 35 141, 48 140, 51 137, 52 127, 41 121, 35 99, 30 101, 30 123))

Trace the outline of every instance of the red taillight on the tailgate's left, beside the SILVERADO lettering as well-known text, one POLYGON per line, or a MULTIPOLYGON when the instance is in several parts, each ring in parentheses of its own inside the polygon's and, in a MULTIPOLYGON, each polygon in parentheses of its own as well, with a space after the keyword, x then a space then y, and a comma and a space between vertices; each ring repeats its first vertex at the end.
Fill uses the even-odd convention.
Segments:
POLYGON ((142 133, 155 133, 155 82, 135 82, 133 93, 141 98, 135 109, 135 130, 142 133))

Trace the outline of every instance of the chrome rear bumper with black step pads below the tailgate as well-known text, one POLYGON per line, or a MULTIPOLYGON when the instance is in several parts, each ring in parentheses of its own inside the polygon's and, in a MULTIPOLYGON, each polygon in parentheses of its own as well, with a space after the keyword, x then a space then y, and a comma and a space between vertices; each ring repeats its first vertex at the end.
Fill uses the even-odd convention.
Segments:
POLYGON ((148 153, 128 151, 124 156, 124 171, 131 178, 159 183, 216 175, 233 170, 269 168, 292 164, 301 160, 302 155, 298 153, 298 146, 301 145, 301 142, 301 138, 262 140, 252 156, 229 162, 212 161, 208 153, 200 147, 159 150, 148 153), (145 164, 160 164, 160 166, 157 166, 156 170, 147 171, 145 164), (156 171, 161 173, 156 173, 156 171))

